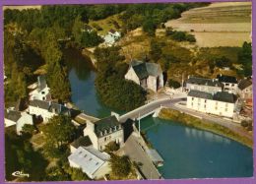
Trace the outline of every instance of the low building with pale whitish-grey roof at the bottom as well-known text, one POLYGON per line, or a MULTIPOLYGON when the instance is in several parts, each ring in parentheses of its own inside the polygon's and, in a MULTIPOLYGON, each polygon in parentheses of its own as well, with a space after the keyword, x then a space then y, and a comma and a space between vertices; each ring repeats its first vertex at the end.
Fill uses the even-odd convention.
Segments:
POLYGON ((100 153, 94 147, 79 147, 68 156, 71 167, 81 168, 91 179, 103 178, 111 171, 108 153, 100 153))

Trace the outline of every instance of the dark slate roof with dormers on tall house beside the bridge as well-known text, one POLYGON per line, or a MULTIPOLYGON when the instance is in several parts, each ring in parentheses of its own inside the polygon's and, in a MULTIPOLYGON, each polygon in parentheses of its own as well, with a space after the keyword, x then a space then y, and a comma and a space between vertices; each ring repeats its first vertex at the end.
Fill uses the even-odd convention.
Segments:
POLYGON ((118 122, 116 117, 113 115, 113 116, 100 119, 96 121, 94 124, 95 124, 96 136, 101 137, 100 132, 102 132, 102 134, 104 135, 105 130, 107 131, 107 134, 110 134, 110 130, 111 132, 115 132, 116 131, 115 127, 116 126, 118 127, 120 125, 120 122, 118 122))

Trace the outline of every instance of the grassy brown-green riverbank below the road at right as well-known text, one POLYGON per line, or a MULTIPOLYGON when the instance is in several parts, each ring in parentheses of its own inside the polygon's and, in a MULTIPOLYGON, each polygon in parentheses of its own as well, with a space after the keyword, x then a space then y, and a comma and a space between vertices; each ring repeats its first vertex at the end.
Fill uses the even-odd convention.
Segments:
POLYGON ((236 142, 239 142, 251 149, 253 148, 253 142, 248 138, 242 137, 239 134, 234 133, 233 131, 229 130, 228 128, 222 125, 214 124, 208 121, 202 121, 199 118, 181 113, 177 110, 162 108, 160 110, 159 117, 161 119, 173 120, 175 122, 178 122, 180 124, 183 124, 189 127, 209 131, 209 132, 224 136, 226 138, 229 138, 231 140, 234 140, 236 142))

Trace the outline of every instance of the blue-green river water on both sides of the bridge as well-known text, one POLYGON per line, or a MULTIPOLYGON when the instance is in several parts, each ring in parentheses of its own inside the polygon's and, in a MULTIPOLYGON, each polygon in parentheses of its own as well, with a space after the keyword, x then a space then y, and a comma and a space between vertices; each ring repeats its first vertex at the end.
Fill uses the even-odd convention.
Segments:
MULTIPOLYGON (((96 95, 96 72, 89 59, 67 50, 72 101, 96 117, 110 115, 96 95)), ((163 178, 250 177, 252 150, 210 132, 188 128, 172 121, 147 117, 141 121, 148 140, 164 159, 159 167, 163 178)))

